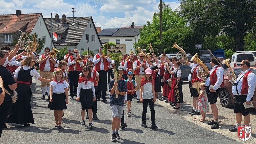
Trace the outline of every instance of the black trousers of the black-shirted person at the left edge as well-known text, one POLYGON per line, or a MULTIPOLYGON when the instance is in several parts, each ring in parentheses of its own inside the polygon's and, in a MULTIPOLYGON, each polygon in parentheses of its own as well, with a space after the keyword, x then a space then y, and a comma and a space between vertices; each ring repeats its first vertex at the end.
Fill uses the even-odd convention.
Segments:
POLYGON ((11 107, 11 102, 8 102, 8 101, 4 101, 3 104, 0 105, 0 138, 3 131, 3 125, 9 114, 10 107, 11 107))

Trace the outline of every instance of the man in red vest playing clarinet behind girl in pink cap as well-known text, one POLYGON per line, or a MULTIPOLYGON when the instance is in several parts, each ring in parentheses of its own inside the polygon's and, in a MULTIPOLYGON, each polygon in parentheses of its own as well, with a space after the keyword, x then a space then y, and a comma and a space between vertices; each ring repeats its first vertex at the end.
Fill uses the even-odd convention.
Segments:
POLYGON ((142 77, 144 77, 145 75, 145 70, 149 67, 148 62, 146 60, 144 60, 145 56, 144 53, 141 52, 139 53, 139 59, 134 61, 133 63, 133 70, 135 73, 135 81, 137 83, 137 101, 136 102, 140 102, 140 84, 141 84, 141 79, 142 77))

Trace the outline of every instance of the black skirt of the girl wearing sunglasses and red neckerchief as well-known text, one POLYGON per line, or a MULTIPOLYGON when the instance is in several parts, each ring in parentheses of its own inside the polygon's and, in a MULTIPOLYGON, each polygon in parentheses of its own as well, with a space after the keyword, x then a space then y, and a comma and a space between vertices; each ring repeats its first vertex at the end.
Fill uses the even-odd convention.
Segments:
POLYGON ((93 92, 92 89, 82 89, 80 90, 80 103, 92 103, 93 102, 93 92))

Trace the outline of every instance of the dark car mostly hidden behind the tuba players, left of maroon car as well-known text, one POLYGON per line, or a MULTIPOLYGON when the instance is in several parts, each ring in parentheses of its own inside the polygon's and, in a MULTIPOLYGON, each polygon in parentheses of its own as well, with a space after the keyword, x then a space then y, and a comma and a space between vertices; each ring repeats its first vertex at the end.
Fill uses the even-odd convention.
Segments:
MULTIPOLYGON (((174 57, 174 56, 172 56, 174 57)), ((167 58, 172 58, 172 57, 167 57, 167 58)), ((193 56, 187 56, 188 57, 188 61, 190 62, 190 59, 193 56)), ((211 57, 206 57, 206 56, 200 56, 200 59, 202 61, 204 61, 204 64, 208 67, 208 69, 210 70, 212 68, 210 61, 211 61, 211 57)), ((190 74, 191 68, 188 65, 180 65, 180 69, 182 72, 182 80, 188 80, 188 75, 190 74)))

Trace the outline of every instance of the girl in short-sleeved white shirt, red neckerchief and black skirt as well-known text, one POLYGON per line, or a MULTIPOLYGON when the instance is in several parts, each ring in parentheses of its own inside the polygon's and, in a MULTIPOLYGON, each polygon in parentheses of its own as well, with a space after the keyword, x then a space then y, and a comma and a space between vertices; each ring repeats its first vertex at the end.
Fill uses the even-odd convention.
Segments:
POLYGON ((48 108, 54 110, 55 127, 58 127, 58 129, 61 129, 62 111, 67 109, 68 86, 69 84, 64 80, 62 70, 57 69, 54 74, 54 80, 50 82, 50 102, 48 108))

